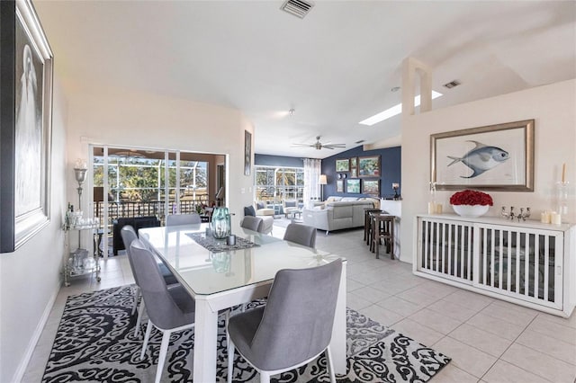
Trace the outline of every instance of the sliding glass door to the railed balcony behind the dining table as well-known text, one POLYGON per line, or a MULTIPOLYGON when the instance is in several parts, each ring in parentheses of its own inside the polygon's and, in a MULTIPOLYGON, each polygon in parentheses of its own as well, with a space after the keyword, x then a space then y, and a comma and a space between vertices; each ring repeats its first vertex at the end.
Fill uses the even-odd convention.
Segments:
MULTIPOLYGON (((205 214, 216 203, 225 156, 94 146, 94 218, 112 232, 119 218, 205 214)), ((224 188, 225 189, 225 188, 224 188)))

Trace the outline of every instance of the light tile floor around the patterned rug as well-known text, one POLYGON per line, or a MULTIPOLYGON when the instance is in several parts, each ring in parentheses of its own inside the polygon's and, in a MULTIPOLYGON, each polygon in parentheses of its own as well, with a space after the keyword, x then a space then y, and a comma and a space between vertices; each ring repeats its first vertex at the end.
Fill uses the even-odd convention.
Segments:
MULTIPOLYGON (((274 228, 284 236, 284 228, 274 228)), ((557 382, 576 379, 576 314, 551 316, 412 274, 409 263, 374 259, 362 230, 325 236, 320 250, 347 257, 347 306, 452 358, 434 382, 557 382)), ((23 382, 39 382, 68 295, 133 283, 125 255, 102 263, 102 282, 62 287, 23 382)))

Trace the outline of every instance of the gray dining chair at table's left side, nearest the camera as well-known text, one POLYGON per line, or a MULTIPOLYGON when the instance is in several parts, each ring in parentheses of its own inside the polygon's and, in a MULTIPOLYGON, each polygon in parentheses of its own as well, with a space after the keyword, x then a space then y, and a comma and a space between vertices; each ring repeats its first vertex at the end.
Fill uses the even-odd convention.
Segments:
POLYGON ((140 359, 144 359, 152 325, 162 332, 155 379, 159 382, 166 361, 170 335, 176 331, 193 328, 195 302, 181 284, 166 286, 154 254, 139 239, 132 241, 130 253, 133 255, 134 276, 139 279, 142 298, 148 312, 148 327, 140 359))

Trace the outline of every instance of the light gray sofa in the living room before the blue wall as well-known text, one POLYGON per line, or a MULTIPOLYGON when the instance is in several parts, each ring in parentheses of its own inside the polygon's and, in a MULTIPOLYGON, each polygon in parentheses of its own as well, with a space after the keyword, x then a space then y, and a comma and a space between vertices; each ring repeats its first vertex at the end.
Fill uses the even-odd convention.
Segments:
POLYGON ((304 225, 326 230, 326 234, 343 228, 364 227, 365 209, 378 208, 374 198, 329 197, 312 209, 302 211, 304 225))

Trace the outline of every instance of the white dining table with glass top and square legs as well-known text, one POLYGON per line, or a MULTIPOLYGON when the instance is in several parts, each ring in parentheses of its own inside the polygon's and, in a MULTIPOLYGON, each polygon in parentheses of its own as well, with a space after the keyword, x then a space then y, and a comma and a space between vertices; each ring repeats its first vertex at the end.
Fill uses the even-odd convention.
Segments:
POLYGON ((139 229, 139 238, 157 254, 196 301, 193 381, 216 381, 218 312, 268 295, 275 273, 305 269, 341 258, 344 263, 332 330, 336 374, 347 370, 346 259, 274 236, 233 227, 234 245, 215 240, 210 224, 139 229))

